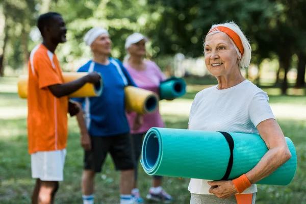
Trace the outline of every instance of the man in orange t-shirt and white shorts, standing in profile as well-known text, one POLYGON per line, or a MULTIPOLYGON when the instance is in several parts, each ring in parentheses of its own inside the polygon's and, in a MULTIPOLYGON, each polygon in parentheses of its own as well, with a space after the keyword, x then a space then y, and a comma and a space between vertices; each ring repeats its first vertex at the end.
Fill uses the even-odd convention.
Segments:
POLYGON ((86 83, 96 83, 98 73, 64 83, 60 63, 55 55, 59 43, 66 42, 65 22, 59 13, 39 16, 37 27, 43 37, 31 52, 28 83, 28 144, 32 177, 36 185, 32 203, 53 203, 63 181, 68 137, 67 113, 79 112, 67 95, 86 83))

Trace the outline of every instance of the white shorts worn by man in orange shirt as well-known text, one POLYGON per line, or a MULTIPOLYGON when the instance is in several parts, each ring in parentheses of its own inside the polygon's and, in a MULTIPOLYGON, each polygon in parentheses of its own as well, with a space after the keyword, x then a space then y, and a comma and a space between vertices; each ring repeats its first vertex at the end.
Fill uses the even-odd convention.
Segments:
POLYGON ((66 149, 37 151, 31 155, 32 178, 41 181, 63 181, 66 149))

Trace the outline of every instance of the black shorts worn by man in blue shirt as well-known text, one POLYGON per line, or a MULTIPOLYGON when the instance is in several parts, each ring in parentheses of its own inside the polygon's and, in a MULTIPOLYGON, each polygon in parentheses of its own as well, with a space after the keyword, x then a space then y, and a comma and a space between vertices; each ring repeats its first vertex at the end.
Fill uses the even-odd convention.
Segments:
POLYGON ((116 170, 134 169, 134 155, 130 133, 116 136, 90 136, 91 150, 84 154, 84 169, 101 172, 108 152, 116 170))

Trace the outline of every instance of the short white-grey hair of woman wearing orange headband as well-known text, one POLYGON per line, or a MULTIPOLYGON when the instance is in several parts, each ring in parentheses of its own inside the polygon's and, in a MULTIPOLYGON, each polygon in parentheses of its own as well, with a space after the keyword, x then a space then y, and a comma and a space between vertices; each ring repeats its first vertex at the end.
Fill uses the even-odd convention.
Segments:
MULTIPOLYGON (((233 40, 230 37, 227 36, 231 40, 231 42, 233 43, 233 45, 236 49, 237 55, 239 57, 241 57, 240 60, 238 60, 239 66, 241 68, 248 67, 249 64, 250 64, 250 61, 251 61, 252 48, 251 48, 251 45, 250 45, 248 39, 245 37, 245 35, 241 31, 241 29, 238 27, 238 25, 235 22, 213 24, 211 29, 213 29, 215 27, 218 27, 218 26, 223 26, 223 27, 229 28, 229 29, 233 30, 235 33, 237 33, 237 35, 240 37, 242 45, 243 45, 243 55, 242 56, 241 56, 241 53, 239 52, 239 49, 236 46, 236 44, 233 42, 233 40)), ((218 31, 218 29, 216 29, 216 30, 217 31, 213 31, 213 32, 209 33, 205 38, 207 38, 208 36, 210 36, 214 33, 221 32, 221 31, 218 31)), ((204 42, 203 46, 205 46, 205 42, 204 42)))

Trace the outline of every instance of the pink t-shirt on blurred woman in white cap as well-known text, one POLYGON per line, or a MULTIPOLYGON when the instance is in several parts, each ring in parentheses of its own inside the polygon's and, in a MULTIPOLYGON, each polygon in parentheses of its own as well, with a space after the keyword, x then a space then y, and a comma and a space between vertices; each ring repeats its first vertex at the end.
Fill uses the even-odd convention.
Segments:
MULTIPOLYGON (((130 73, 135 84, 142 89, 146 89, 159 94, 160 82, 166 79, 164 73, 160 70, 155 62, 144 61, 146 64, 146 69, 143 71, 138 71, 131 67, 129 63, 124 63, 124 67, 130 73)), ((154 113, 146 114, 143 116, 143 125, 139 130, 133 131, 134 120, 136 113, 126 114, 127 121, 131 128, 132 134, 146 133, 151 127, 164 127, 164 122, 162 116, 157 109, 154 113)))

